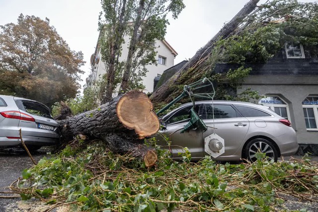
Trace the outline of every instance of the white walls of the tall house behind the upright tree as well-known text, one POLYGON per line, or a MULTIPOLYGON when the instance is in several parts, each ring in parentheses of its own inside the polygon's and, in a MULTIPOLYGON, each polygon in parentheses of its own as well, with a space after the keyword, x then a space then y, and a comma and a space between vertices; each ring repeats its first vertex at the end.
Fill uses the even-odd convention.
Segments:
MULTIPOLYGON (((128 46, 129 46, 129 37, 125 37, 125 43, 122 45, 122 54, 119 58, 119 61, 127 60, 128 56, 128 46)), ((166 41, 158 40, 156 41, 156 51, 157 60, 159 57, 165 58, 164 64, 157 64, 156 65, 148 65, 146 66, 148 72, 146 77, 143 77, 143 84, 145 85, 144 92, 153 92, 154 90, 154 78, 158 74, 162 74, 164 70, 169 69, 170 67, 174 66, 174 58, 176 56, 176 52, 167 44, 166 41)), ((92 65, 92 72, 91 72, 91 80, 98 80, 103 74, 106 73, 105 64, 101 61, 101 55, 99 49, 95 52, 96 57, 99 58, 99 62, 92 65)))

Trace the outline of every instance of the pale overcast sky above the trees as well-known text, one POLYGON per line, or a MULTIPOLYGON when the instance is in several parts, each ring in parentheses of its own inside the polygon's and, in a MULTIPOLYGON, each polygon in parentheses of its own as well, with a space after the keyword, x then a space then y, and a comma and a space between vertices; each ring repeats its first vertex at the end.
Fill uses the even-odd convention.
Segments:
MULTIPOLYGON (((260 0, 260 3, 266 0, 260 0)), ((315 0, 300 0, 313 2, 315 0)), ((183 0, 185 8, 178 19, 169 20, 165 39, 178 53, 177 64, 191 58, 223 26, 230 21, 248 0, 183 0)), ((50 19, 57 32, 75 51, 82 51, 86 64, 82 67, 85 79, 89 59, 98 38, 97 23, 100 0, 0 0, 0 25, 17 22, 20 13, 50 19)), ((84 84, 84 81, 81 82, 84 84)))

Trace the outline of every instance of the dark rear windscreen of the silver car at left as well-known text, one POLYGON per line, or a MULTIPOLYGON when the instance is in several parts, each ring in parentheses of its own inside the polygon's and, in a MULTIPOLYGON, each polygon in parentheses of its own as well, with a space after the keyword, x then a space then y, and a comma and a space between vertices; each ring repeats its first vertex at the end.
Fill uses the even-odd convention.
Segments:
POLYGON ((32 115, 52 118, 50 110, 41 103, 26 100, 16 100, 15 102, 20 110, 26 111, 32 115))

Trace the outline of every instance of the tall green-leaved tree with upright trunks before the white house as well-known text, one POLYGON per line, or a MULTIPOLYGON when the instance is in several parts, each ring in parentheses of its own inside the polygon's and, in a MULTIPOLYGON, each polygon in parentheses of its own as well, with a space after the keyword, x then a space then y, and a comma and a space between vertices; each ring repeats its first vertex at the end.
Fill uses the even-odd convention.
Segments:
POLYGON ((105 97, 111 99, 114 89, 122 91, 140 87, 146 65, 156 64, 156 40, 164 39, 168 23, 184 8, 182 0, 102 0, 99 17, 99 45, 107 81, 105 97), (120 61, 125 36, 129 37, 128 55, 120 61))

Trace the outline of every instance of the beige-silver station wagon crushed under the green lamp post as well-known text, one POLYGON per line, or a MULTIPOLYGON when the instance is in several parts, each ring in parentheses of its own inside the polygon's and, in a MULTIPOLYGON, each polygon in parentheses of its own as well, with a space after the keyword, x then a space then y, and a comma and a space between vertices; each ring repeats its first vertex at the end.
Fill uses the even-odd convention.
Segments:
MULTIPOLYGON (((204 139, 214 132, 224 139, 225 152, 216 158, 219 161, 241 158, 253 161, 258 150, 277 161, 278 157, 292 155, 298 149, 296 132, 288 120, 268 107, 247 102, 198 101, 194 109, 208 130, 180 133, 190 120, 192 107, 192 103, 187 103, 160 117, 164 127, 159 132, 170 137, 170 149, 175 159, 181 158, 178 153, 183 151, 182 147, 189 149, 193 160, 203 158, 207 155, 204 139)), ((168 148, 162 136, 157 138, 159 145, 168 148)))

